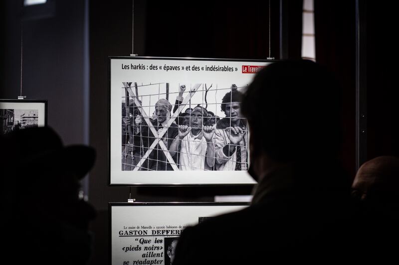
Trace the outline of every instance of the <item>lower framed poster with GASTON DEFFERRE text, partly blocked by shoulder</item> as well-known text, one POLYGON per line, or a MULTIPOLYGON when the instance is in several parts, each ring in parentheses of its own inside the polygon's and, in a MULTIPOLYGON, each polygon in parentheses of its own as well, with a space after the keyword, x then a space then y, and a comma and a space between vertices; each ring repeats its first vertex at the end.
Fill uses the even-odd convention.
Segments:
POLYGON ((110 203, 110 264, 170 265, 186 226, 247 206, 235 202, 110 203))

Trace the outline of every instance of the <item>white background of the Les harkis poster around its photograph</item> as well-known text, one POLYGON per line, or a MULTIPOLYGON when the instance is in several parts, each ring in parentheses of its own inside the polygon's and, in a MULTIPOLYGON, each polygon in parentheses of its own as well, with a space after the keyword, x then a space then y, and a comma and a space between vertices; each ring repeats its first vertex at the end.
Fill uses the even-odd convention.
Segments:
MULTIPOLYGON (((177 91, 179 85, 186 85, 188 88, 195 84, 212 84, 212 88, 230 88, 231 84, 237 87, 249 85, 254 73, 242 73, 243 66, 265 66, 269 62, 264 61, 215 61, 206 59, 143 59, 143 58, 110 58, 110 179, 113 184, 252 184, 256 183, 246 171, 122 171, 122 126, 121 126, 121 104, 125 97, 123 82, 138 83, 138 85, 159 84, 159 88, 145 91, 144 94, 165 93, 165 83, 170 84, 170 89, 177 91), (144 70, 132 70, 131 66, 144 66, 144 70), (151 66, 157 70, 150 70, 151 66), (195 71, 193 71, 193 66, 195 71), (129 69, 126 69, 129 67, 129 69), (179 70, 168 70, 166 67, 179 67, 179 70), (205 71, 205 67, 230 67, 232 72, 227 71, 205 71), (190 68, 190 70, 188 70, 190 68)), ((132 84, 133 87, 133 84, 132 84)), ((132 89, 134 91, 134 88, 132 89)), ((140 88, 140 95, 143 95, 140 88)), ((189 89, 186 90, 186 94, 189 89)), ((227 90, 223 90, 227 91, 227 90)), ((193 98, 202 96, 198 92, 193 98)), ((209 110, 215 115, 224 117, 220 105, 224 93, 209 91, 209 110)), ((171 94, 169 101, 174 104, 177 94, 171 94)), ((146 97, 149 98, 149 97, 146 97)), ((144 99, 143 106, 149 117, 154 111, 155 102, 159 95, 151 96, 151 99, 144 99), (151 104, 150 104, 151 100, 151 104), (152 106, 151 106, 152 105, 152 106)), ((186 109, 186 107, 184 108, 186 109)))

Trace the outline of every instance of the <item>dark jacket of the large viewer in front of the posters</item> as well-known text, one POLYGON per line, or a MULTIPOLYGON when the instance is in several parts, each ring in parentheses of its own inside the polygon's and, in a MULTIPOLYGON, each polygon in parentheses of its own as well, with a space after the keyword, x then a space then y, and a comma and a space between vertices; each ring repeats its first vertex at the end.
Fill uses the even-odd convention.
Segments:
POLYGON ((299 189, 295 180, 298 177, 291 175, 306 177, 307 174, 321 177, 316 172, 293 172, 289 168, 275 171, 274 176, 270 176, 273 181, 288 180, 276 184, 269 192, 263 191, 273 184, 261 182, 254 196, 256 202, 251 206, 185 229, 174 265, 285 264, 289 261, 324 264, 332 257, 345 257, 352 251, 350 244, 353 243, 348 240, 352 227, 348 215, 349 196, 333 198, 318 190, 299 189))

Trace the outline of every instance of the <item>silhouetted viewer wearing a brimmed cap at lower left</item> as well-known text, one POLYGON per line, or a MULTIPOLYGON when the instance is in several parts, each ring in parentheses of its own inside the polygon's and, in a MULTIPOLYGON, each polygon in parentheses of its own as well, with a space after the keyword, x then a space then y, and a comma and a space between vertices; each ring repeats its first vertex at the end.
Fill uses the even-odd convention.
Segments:
POLYGON ((1 147, 9 263, 86 264, 95 210, 78 192, 94 164, 94 149, 65 147, 50 128, 12 132, 1 147))

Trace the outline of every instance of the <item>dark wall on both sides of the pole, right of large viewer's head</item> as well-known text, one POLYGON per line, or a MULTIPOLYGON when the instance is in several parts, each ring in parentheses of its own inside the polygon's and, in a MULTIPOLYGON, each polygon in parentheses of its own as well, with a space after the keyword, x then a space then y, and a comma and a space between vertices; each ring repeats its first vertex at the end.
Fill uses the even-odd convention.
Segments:
MULTIPOLYGON (((393 34, 396 9, 391 4, 360 2, 361 86, 367 127, 361 132, 360 164, 382 155, 399 156, 398 56, 393 34), (363 31, 365 29, 365 31, 363 31)), ((339 79, 343 90, 343 158, 356 173, 356 1, 315 0, 316 58, 339 79)), ((359 113, 361 116, 362 113, 359 113)))

